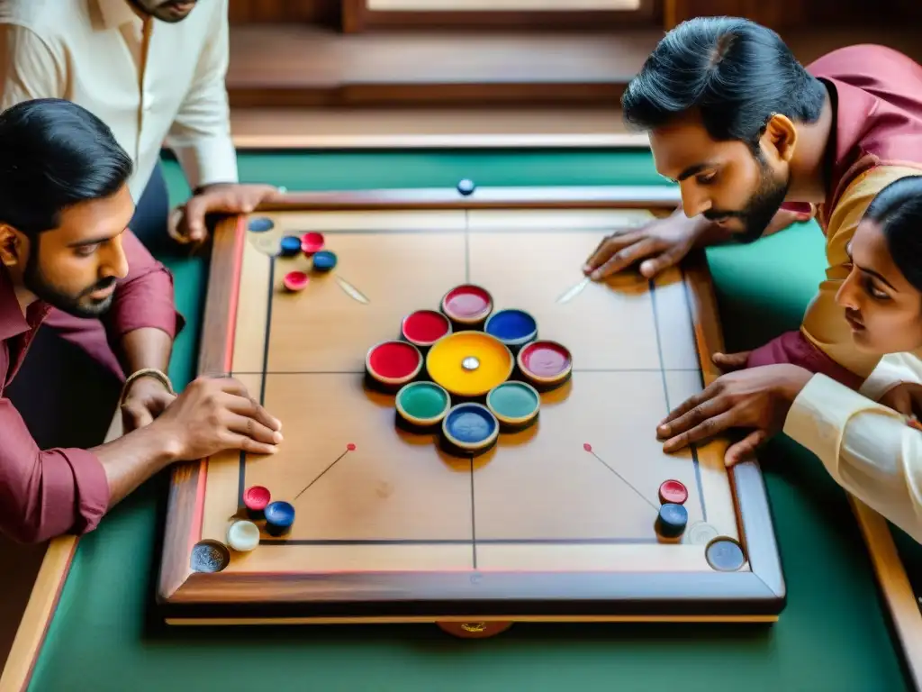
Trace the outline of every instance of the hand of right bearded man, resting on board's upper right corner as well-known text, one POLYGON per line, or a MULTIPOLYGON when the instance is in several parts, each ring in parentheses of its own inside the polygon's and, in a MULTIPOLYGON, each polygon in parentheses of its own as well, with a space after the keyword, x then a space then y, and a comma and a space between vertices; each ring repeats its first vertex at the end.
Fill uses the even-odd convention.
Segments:
POLYGON ((701 220, 689 219, 677 211, 641 228, 616 231, 602 240, 586 260, 583 271, 591 279, 600 280, 640 262, 640 273, 651 279, 688 255, 702 229, 701 220))

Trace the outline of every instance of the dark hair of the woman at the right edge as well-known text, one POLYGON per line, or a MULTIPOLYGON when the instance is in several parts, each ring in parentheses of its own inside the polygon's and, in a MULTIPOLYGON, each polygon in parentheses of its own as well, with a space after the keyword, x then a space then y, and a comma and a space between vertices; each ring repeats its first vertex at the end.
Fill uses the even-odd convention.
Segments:
POLYGON ((922 291, 922 175, 908 175, 884 187, 864 218, 881 227, 896 268, 922 291))

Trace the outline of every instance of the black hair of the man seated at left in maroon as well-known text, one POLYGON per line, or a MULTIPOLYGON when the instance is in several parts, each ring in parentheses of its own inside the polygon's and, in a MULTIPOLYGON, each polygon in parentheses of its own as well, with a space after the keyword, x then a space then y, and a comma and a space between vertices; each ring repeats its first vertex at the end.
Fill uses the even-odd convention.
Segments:
POLYGON ((22 101, 0 113, 0 221, 35 236, 61 212, 115 194, 133 163, 98 117, 72 101, 22 101))

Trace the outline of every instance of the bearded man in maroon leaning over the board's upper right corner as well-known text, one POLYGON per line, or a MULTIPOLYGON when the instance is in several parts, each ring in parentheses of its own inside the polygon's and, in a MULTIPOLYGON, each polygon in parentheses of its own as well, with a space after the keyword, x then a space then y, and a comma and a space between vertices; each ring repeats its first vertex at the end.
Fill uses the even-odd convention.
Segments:
POLYGON ((668 32, 622 103, 625 119, 649 133, 656 170, 680 185, 681 209, 609 237, 586 273, 602 279, 639 262, 652 277, 692 247, 751 242, 783 227, 788 209, 809 209, 829 264, 801 328, 715 360, 798 364, 857 388, 879 359, 855 348, 835 292, 870 201, 922 172, 922 66, 856 45, 804 67, 774 31, 695 18, 668 32))

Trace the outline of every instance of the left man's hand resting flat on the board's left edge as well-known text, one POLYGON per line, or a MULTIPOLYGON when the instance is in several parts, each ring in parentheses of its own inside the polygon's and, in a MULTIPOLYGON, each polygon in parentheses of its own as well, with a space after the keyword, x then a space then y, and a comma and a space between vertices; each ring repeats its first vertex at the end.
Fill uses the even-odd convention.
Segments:
POLYGON ((199 377, 151 424, 175 443, 175 459, 203 459, 224 449, 274 454, 282 424, 235 379, 199 377))

